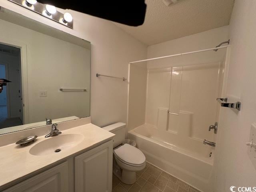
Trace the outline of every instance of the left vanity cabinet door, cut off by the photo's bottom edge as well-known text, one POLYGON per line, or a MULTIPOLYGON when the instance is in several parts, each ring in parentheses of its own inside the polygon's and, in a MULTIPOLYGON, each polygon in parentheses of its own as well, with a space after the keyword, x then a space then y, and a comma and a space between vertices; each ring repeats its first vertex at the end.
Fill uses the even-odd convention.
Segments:
POLYGON ((3 192, 68 192, 68 163, 50 168, 3 192))

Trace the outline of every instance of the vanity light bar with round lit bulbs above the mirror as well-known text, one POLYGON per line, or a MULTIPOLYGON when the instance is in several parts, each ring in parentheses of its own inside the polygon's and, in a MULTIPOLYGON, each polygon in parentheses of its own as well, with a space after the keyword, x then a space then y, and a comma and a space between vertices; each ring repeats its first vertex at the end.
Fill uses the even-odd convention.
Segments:
POLYGON ((73 17, 70 13, 61 13, 56 10, 53 5, 42 4, 37 0, 8 0, 15 4, 18 4, 28 10, 36 12, 50 20, 58 22, 64 26, 73 29, 73 17))

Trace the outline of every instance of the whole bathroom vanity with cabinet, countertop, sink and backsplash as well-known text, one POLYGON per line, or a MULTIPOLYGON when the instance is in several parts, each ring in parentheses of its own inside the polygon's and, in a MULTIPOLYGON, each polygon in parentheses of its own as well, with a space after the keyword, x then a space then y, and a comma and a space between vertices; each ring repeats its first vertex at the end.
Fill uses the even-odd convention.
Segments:
POLYGON ((62 134, 45 138, 50 127, 11 133, 10 144, 11 134, 0 136, 0 191, 111 192, 114 134, 91 124, 90 117, 60 123, 62 134), (28 146, 13 143, 36 133, 28 146))

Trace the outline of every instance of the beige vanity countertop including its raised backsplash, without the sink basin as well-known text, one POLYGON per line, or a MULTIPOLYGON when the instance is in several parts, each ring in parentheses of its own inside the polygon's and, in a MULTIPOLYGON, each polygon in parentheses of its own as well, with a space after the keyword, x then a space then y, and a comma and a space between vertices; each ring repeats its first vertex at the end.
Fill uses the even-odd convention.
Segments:
POLYGON ((2 144, 6 144, 0 147, 0 191, 16 184, 21 178, 24 180, 44 168, 58 164, 70 156, 95 148, 100 144, 112 140, 114 137, 114 134, 91 124, 90 118, 60 123, 58 129, 62 132, 59 136, 79 134, 84 139, 81 139, 76 146, 63 149, 59 153, 53 152, 47 155, 32 155, 30 154, 30 149, 33 146, 39 142, 54 139, 54 137, 44 137, 45 133, 49 132, 49 126, 0 136, 0 140, 3 140, 2 144), (19 138, 33 134, 37 134, 39 137, 29 146, 18 146, 14 143, 19 138), (12 135, 15 140, 13 140, 12 135), (8 139, 12 143, 8 143, 8 139))

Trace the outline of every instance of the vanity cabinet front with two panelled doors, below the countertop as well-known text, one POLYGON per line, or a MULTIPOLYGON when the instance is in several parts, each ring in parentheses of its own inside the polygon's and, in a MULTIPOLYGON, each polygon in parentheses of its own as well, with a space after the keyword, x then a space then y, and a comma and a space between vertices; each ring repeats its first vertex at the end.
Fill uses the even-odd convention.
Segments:
POLYGON ((111 192, 112 160, 110 140, 2 192, 111 192))

